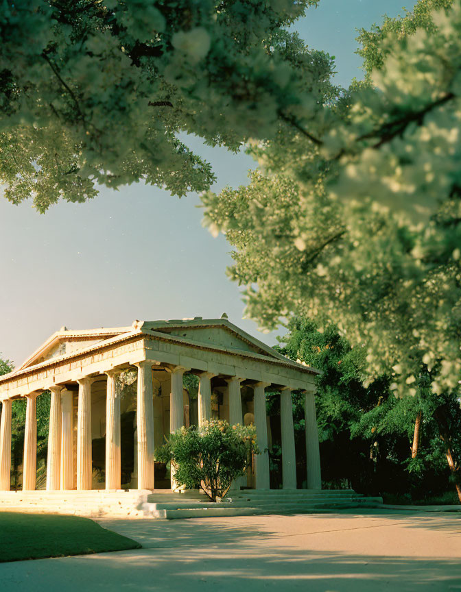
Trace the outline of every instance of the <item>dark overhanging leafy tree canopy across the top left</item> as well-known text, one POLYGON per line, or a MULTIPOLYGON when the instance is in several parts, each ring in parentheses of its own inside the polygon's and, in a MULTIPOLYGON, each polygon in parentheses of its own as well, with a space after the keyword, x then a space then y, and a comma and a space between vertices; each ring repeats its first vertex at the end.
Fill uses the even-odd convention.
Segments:
POLYGON ((44 212, 96 184, 208 188, 210 165, 178 132, 235 150, 313 112, 331 60, 285 27, 317 1, 4 2, 5 197, 44 212))

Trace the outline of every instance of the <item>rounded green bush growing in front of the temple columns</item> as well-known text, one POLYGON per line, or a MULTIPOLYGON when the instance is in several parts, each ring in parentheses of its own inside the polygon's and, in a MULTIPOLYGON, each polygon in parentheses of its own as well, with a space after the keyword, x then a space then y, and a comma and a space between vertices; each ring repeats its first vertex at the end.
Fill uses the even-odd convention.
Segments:
POLYGON ((188 489, 201 488, 212 502, 222 499, 235 478, 242 476, 251 453, 258 452, 256 430, 206 421, 200 428, 181 428, 156 451, 161 462, 172 462, 175 479, 188 489))

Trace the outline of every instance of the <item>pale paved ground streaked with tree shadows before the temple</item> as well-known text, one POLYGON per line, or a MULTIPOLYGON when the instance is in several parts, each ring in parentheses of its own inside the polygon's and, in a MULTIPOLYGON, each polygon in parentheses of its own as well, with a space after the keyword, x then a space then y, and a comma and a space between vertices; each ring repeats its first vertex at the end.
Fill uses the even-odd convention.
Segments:
POLYGON ((144 548, 3 563, 1 591, 461 592, 460 513, 99 523, 144 548))

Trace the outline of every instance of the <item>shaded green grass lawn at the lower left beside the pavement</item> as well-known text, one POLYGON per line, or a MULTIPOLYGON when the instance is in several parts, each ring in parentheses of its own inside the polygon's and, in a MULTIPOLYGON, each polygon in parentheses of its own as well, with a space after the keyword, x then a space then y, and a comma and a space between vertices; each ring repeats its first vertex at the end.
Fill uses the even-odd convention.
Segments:
POLYGON ((0 512, 0 562, 139 549, 88 518, 0 512))

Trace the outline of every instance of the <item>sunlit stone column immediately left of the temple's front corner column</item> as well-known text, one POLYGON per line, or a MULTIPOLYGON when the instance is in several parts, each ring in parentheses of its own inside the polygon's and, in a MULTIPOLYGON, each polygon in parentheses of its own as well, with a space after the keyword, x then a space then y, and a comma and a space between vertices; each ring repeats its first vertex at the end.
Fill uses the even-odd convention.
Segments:
POLYGON ((106 372, 106 489, 121 488, 120 391, 117 388, 117 373, 115 370, 106 372))

